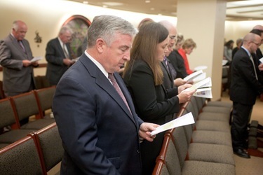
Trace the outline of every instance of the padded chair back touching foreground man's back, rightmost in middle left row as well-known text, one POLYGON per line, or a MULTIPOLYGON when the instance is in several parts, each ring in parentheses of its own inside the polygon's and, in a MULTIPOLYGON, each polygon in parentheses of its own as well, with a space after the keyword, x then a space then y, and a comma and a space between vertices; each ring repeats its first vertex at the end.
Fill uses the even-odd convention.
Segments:
MULTIPOLYGON (((46 111, 52 108, 55 86, 46 87, 40 90, 34 90, 39 104, 39 111, 46 111)), ((41 114, 43 114, 41 112, 41 114)), ((43 117, 43 115, 41 116, 43 117)))

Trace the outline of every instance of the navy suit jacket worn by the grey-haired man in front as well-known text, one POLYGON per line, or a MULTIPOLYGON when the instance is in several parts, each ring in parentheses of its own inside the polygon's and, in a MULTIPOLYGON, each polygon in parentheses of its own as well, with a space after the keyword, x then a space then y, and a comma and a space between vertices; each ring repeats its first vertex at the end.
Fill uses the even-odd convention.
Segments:
POLYGON ((142 120, 119 73, 114 76, 132 114, 85 54, 60 79, 53 113, 65 148, 62 174, 141 174, 142 120))

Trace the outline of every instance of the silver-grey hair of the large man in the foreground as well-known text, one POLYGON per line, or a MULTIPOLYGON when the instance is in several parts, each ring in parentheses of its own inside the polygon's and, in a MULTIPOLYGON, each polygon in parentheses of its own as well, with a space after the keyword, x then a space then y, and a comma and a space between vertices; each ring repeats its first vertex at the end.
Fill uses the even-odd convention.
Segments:
POLYGON ((130 22, 113 15, 100 15, 93 19, 88 28, 88 48, 95 45, 98 38, 102 38, 107 45, 111 45, 115 34, 135 36, 137 30, 130 22))

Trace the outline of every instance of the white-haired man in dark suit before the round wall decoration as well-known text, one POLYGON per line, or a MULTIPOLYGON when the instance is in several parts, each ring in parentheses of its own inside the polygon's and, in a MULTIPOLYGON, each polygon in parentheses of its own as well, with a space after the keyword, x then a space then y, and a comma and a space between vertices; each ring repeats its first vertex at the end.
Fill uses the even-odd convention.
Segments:
POLYGON ((71 37, 72 30, 64 26, 60 29, 58 37, 50 40, 46 46, 46 78, 50 85, 57 85, 63 73, 74 64, 69 45, 71 37))

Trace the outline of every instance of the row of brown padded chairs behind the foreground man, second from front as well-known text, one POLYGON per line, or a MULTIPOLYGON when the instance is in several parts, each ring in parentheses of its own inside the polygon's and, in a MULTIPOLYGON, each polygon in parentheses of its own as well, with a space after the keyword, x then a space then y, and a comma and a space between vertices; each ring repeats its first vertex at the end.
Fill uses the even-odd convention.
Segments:
POLYGON ((52 108, 54 93, 55 86, 0 100, 0 128, 11 126, 11 130, 0 134, 0 148, 55 123, 54 118, 45 115, 45 111, 52 108), (35 116, 36 120, 20 125, 22 120, 31 116, 35 116))

